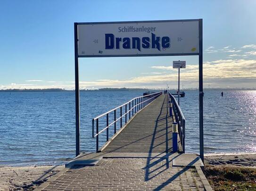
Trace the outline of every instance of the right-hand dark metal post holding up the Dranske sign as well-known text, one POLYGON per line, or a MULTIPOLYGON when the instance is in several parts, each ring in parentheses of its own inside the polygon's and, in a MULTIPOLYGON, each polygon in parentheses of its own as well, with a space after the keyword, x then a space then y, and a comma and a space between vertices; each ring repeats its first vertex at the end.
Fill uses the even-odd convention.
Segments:
POLYGON ((203 96, 203 20, 199 19, 199 137, 200 158, 204 162, 203 96))

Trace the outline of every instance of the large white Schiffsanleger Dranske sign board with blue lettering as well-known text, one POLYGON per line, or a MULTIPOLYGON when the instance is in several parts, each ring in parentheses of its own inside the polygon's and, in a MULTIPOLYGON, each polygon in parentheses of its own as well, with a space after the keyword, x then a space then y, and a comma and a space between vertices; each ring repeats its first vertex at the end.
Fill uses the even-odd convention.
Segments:
POLYGON ((199 21, 78 23, 78 56, 198 55, 199 21))

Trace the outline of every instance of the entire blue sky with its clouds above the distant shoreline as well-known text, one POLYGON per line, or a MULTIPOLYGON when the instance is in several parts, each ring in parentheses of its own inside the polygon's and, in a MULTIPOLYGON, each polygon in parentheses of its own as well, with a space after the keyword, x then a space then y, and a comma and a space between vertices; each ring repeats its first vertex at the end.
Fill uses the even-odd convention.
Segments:
MULTIPOLYGON (((255 0, 1 0, 0 89, 74 89, 74 22, 203 19, 205 87, 256 87, 255 0)), ((80 58, 81 88, 198 87, 198 56, 80 58)))

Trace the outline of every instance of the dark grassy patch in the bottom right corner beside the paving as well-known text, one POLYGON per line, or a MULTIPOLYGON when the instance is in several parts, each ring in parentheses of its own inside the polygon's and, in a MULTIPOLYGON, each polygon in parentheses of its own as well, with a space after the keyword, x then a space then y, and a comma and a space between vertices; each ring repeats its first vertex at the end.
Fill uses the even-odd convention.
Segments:
POLYGON ((206 166, 205 175, 215 191, 256 191, 256 168, 206 166))

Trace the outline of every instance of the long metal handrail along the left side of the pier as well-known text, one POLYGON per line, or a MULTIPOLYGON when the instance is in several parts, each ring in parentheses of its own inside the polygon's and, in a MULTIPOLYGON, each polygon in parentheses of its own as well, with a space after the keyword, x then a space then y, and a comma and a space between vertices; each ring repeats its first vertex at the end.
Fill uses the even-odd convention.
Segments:
POLYGON ((107 141, 108 141, 108 128, 114 124, 114 134, 116 134, 116 122, 120 120, 120 129, 123 126, 122 118, 125 117, 125 123, 126 124, 133 115, 135 115, 138 111, 140 111, 142 108, 149 105, 154 99, 159 97, 162 94, 162 92, 152 93, 145 96, 140 96, 131 99, 130 101, 124 103, 121 106, 118 106, 114 109, 111 109, 107 111, 104 114, 101 114, 95 118, 92 119, 92 138, 96 137, 96 152, 99 152, 99 134, 101 134, 103 131, 107 130, 107 141), (127 108, 129 107, 129 108, 127 108), (122 114, 122 108, 125 109, 125 113, 122 114), (120 109, 120 117, 116 119, 116 110, 120 109), (127 110, 128 109, 128 110, 127 110), (109 114, 111 112, 114 112, 114 121, 109 124, 109 114), (99 119, 106 115, 106 127, 103 130, 99 131, 99 119), (128 116, 129 119, 128 119, 128 116), (96 121, 96 134, 94 135, 94 122, 96 121))

